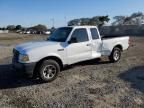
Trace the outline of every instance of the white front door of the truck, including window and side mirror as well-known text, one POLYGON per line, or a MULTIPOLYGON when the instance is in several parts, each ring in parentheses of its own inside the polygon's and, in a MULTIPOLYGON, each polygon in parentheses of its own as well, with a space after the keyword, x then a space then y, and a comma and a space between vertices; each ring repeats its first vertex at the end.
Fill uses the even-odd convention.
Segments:
POLYGON ((69 64, 91 58, 91 44, 86 28, 75 29, 67 46, 69 64))

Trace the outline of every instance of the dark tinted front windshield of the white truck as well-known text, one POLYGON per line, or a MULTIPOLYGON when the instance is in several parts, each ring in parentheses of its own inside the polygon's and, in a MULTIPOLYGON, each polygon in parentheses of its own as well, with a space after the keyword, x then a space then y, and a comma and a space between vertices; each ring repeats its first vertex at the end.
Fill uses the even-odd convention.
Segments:
POLYGON ((47 40, 56 42, 65 42, 71 31, 72 27, 58 28, 52 35, 50 35, 50 37, 47 40))

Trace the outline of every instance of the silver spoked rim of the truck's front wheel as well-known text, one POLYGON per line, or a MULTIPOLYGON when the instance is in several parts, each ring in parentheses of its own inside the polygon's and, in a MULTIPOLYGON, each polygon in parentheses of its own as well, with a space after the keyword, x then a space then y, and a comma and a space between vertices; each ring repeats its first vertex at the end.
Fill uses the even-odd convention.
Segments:
POLYGON ((47 65, 43 69, 43 76, 47 79, 52 79, 56 75, 56 67, 54 65, 47 65))

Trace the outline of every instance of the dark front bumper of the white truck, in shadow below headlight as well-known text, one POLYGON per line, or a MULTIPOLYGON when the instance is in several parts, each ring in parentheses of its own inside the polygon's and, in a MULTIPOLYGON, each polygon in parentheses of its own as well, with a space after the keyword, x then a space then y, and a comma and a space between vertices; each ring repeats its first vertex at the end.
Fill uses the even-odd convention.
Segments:
POLYGON ((30 77, 33 76, 36 63, 12 63, 14 70, 22 72, 30 77))

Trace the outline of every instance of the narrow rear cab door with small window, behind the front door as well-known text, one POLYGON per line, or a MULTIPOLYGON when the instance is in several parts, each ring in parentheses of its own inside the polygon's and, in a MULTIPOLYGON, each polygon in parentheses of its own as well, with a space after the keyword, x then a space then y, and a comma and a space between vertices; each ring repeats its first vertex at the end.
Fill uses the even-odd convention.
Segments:
POLYGON ((102 41, 96 28, 90 28, 92 38, 92 58, 101 57, 102 41))

